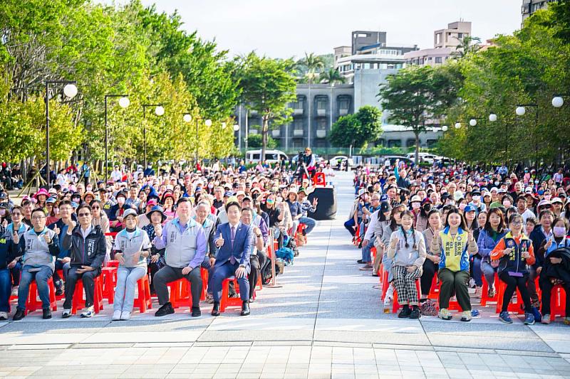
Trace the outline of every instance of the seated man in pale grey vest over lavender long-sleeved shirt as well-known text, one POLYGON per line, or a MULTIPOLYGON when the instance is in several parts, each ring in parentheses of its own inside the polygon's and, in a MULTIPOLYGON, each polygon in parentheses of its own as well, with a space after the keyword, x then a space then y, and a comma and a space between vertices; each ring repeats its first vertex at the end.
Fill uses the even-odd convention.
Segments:
POLYGON ((174 313, 174 308, 168 299, 167 284, 183 277, 190 282, 192 317, 202 315, 200 265, 206 255, 207 240, 202 225, 190 218, 191 208, 190 199, 180 198, 177 203, 178 217, 168 222, 164 230, 160 225, 155 227, 156 237, 152 243, 159 250, 166 248, 166 266, 162 267, 154 277, 154 287, 160 304, 155 316, 174 313))

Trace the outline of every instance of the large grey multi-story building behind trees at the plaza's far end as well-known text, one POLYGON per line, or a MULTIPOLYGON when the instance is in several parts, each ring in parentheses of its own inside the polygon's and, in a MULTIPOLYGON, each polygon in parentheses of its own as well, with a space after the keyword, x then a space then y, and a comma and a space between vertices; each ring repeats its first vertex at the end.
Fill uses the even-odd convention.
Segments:
MULTIPOLYGON (((381 109, 379 85, 403 68, 404 55, 418 50, 418 46, 388 46, 386 33, 355 31, 351 46, 334 48, 334 67, 346 78, 346 84, 298 84, 296 102, 290 107, 292 122, 271 129, 269 135, 279 142, 280 149, 296 151, 305 146, 323 148, 331 146, 328 136, 339 117, 352 114, 364 105, 381 109)), ((246 136, 261 132, 261 117, 240 107, 237 112, 241 129, 237 142, 246 148, 246 136)), ((390 125, 390 114, 383 112, 384 133, 380 144, 409 147, 415 144, 413 132, 398 125, 390 125)), ((437 126, 437 125, 434 125, 437 126)), ((428 131, 420 136, 421 146, 437 141, 437 132, 428 131)), ((348 147, 348 146, 345 146, 348 147)))

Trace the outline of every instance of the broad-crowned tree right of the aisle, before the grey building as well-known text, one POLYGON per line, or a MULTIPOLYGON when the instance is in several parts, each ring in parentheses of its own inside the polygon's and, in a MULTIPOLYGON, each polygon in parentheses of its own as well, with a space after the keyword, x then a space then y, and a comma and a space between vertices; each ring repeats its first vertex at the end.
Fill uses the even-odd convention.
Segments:
POLYGON ((383 110, 390 122, 412 129, 415 135, 415 162, 419 161, 420 133, 427 120, 434 119, 457 98, 461 78, 455 66, 432 68, 410 66, 388 76, 380 85, 383 110))

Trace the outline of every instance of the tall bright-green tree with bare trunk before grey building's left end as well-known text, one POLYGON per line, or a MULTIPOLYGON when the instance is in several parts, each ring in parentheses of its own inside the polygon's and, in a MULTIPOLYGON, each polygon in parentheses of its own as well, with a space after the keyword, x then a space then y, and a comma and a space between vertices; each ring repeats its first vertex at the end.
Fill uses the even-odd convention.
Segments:
POLYGON ((265 159, 269 124, 277 126, 291 120, 289 103, 296 99, 291 60, 274 60, 249 53, 238 67, 239 88, 250 109, 261 114, 261 159, 265 159))

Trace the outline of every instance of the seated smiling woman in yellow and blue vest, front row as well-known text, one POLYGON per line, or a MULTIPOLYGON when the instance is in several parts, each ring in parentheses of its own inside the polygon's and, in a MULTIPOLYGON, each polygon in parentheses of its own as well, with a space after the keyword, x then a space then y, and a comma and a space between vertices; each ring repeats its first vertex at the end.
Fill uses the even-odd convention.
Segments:
POLYGON ((430 250, 433 255, 440 255, 440 269, 437 272, 440 279, 440 319, 452 319, 447 307, 455 289, 455 296, 463 311, 461 321, 471 321, 471 300, 467 290, 469 255, 477 254, 479 249, 473 231, 467 229, 465 218, 458 208, 449 210, 445 228, 432 240, 430 250))

